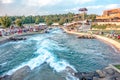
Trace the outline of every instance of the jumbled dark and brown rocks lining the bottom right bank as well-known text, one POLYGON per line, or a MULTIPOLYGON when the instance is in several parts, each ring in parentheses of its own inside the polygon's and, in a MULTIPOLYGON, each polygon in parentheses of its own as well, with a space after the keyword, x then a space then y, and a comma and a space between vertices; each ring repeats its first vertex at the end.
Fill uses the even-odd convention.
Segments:
POLYGON ((79 80, 120 80, 120 73, 110 67, 103 70, 96 70, 95 72, 78 72, 75 76, 79 80))

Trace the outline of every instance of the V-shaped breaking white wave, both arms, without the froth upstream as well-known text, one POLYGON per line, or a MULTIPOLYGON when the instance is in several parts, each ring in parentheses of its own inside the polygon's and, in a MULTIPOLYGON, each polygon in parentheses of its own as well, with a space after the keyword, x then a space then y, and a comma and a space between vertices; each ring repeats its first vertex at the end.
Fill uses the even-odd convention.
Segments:
POLYGON ((9 72, 7 72, 7 74, 11 75, 13 72, 24 67, 25 65, 28 65, 33 70, 44 62, 49 64, 49 66, 57 72, 63 71, 66 69, 67 66, 70 66, 65 60, 57 60, 53 54, 51 54, 45 49, 39 49, 38 51, 40 51, 40 55, 38 57, 33 58, 30 61, 25 62, 20 66, 10 70, 9 72))

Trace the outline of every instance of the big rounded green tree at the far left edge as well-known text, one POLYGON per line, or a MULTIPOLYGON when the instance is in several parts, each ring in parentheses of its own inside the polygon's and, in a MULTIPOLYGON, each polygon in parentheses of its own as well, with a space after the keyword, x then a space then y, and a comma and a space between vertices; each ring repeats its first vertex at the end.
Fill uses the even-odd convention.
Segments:
POLYGON ((11 25, 11 19, 8 16, 3 16, 0 18, 0 23, 3 27, 8 28, 11 25))

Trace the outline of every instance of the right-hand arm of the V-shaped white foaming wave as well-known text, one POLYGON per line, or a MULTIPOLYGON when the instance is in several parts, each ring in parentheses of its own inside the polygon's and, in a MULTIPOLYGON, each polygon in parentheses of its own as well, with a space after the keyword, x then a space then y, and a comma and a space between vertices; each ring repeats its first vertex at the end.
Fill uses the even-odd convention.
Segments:
POLYGON ((39 49, 38 52, 40 52, 40 56, 42 57, 44 62, 49 64, 49 66, 57 72, 63 71, 66 69, 67 66, 70 66, 65 60, 57 59, 54 54, 45 49, 39 49))

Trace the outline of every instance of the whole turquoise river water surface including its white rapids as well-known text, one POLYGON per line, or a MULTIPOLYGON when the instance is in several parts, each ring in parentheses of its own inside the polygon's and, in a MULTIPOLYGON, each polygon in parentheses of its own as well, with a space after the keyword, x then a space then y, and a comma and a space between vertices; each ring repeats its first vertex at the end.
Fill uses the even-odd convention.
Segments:
POLYGON ((58 28, 25 37, 25 41, 0 45, 0 75, 28 65, 32 73, 26 80, 73 80, 63 73, 67 66, 90 72, 120 61, 111 46, 96 39, 78 39, 58 28))

